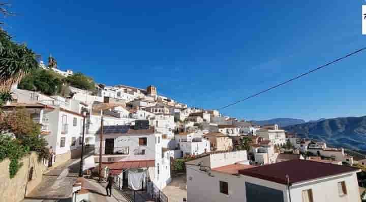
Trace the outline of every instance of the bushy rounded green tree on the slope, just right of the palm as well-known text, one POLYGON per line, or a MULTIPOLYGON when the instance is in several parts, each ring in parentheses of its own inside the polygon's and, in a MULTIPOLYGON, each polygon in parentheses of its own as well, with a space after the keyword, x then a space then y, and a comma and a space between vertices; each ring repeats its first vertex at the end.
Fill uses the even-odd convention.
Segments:
POLYGON ((56 95, 62 89, 63 76, 46 69, 36 69, 25 76, 18 88, 37 91, 46 95, 56 95))

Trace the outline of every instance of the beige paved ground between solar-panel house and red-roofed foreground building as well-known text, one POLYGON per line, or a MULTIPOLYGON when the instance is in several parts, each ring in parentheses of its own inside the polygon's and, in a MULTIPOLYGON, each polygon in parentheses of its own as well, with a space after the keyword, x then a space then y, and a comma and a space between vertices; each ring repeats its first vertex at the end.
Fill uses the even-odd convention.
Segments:
POLYGON ((163 189, 163 193, 168 197, 169 202, 181 202, 187 198, 187 179, 185 174, 172 176, 172 182, 163 189))

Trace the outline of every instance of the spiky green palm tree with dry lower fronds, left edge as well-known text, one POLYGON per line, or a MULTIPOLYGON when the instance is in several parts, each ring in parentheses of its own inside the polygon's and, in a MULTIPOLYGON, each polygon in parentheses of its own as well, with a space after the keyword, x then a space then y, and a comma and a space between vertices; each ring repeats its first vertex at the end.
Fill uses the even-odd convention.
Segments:
POLYGON ((39 56, 26 44, 17 44, 0 28, 0 93, 9 92, 29 71, 38 68, 39 56))

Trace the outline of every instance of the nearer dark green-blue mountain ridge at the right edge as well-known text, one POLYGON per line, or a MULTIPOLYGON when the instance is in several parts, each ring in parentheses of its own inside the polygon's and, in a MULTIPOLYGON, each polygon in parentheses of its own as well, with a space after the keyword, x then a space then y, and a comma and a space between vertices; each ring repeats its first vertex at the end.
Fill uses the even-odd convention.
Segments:
POLYGON ((366 116, 319 119, 282 129, 333 146, 366 150, 366 116))

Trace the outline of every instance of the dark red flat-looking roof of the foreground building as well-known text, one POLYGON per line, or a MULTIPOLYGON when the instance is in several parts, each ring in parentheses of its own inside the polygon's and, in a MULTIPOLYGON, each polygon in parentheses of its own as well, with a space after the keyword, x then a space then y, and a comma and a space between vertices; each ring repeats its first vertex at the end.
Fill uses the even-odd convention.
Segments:
POLYGON ((288 175, 289 183, 292 184, 357 171, 359 169, 349 166, 296 159, 240 170, 239 174, 280 184, 287 184, 286 175, 288 175))

